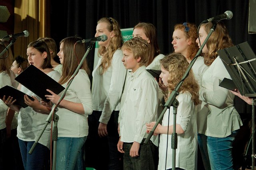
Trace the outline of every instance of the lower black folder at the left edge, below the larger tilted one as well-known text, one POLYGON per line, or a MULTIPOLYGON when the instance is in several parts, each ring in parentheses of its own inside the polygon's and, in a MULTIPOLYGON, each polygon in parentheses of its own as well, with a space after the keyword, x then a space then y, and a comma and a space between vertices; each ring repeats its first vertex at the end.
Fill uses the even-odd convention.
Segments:
MULTIPOLYGON (((28 107, 27 104, 24 102, 24 95, 25 93, 21 92, 20 90, 17 90, 16 88, 13 88, 11 86, 4 86, 0 88, 0 98, 2 99, 5 95, 5 98, 7 99, 9 96, 13 97, 13 100, 16 99, 14 102, 15 105, 18 105, 20 107, 28 107)), ((28 96, 28 95, 27 95, 28 96)), ((34 99, 31 96, 28 96, 32 101, 34 99)))

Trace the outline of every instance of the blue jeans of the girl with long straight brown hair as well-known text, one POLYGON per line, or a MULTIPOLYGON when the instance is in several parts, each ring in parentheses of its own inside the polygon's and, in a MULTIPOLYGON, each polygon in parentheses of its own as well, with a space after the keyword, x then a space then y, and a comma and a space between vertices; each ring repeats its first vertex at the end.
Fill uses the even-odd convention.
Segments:
POLYGON ((82 147, 87 137, 58 137, 56 170, 82 170, 82 147))

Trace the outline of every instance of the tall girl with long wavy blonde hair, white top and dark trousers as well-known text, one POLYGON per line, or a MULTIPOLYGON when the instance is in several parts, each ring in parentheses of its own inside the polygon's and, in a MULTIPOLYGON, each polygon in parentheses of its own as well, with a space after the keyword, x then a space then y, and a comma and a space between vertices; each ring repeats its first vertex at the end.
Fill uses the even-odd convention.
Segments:
POLYGON ((90 147, 86 149, 86 155, 90 160, 88 166, 95 169, 120 169, 122 155, 116 150, 116 144, 126 69, 121 61, 122 35, 118 22, 106 17, 98 20, 95 37, 102 34, 108 39, 98 42, 100 59, 92 72, 93 113, 88 116, 90 140, 86 147, 90 147))

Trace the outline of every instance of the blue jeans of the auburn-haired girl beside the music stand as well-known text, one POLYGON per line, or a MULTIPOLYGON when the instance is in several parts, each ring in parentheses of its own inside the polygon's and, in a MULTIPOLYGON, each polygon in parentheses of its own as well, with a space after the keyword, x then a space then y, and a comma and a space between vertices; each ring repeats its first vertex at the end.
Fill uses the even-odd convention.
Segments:
POLYGON ((232 143, 236 133, 237 131, 233 131, 231 135, 223 138, 204 135, 207 139, 207 150, 212 170, 233 170, 232 143))

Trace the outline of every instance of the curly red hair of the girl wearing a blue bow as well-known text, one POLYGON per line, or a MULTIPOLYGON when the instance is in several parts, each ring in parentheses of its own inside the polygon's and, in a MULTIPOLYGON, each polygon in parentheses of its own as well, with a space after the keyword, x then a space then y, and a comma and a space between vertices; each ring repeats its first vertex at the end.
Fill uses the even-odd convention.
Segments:
POLYGON ((187 56, 187 58, 189 60, 192 60, 196 56, 196 53, 199 50, 199 47, 196 43, 196 39, 198 37, 197 27, 194 23, 187 22, 186 24, 187 24, 187 27, 189 28, 188 31, 184 31, 186 27, 185 27, 185 25, 183 25, 181 23, 178 23, 178 24, 174 25, 174 30, 180 29, 181 31, 184 32, 184 35, 185 35, 186 39, 190 39, 191 44, 188 46, 188 50, 187 50, 188 56, 187 56))

